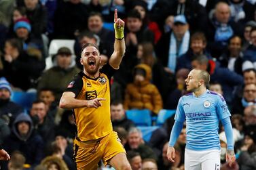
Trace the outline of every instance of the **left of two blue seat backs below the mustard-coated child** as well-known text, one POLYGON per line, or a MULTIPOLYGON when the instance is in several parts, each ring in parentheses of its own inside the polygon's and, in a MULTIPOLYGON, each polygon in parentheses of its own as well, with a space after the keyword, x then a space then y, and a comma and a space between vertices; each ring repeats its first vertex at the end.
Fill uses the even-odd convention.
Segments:
POLYGON ((126 110, 127 119, 130 119, 137 126, 151 126, 151 111, 144 109, 126 110))

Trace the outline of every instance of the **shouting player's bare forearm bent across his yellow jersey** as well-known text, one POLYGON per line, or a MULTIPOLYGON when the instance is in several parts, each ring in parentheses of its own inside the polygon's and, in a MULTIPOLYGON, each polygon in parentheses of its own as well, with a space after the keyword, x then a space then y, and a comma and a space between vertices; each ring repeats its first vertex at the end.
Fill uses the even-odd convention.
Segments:
POLYGON ((95 98, 93 100, 77 100, 75 98, 75 93, 71 91, 66 91, 62 94, 60 98, 60 108, 98 108, 102 106, 100 101, 105 100, 105 98, 95 98))

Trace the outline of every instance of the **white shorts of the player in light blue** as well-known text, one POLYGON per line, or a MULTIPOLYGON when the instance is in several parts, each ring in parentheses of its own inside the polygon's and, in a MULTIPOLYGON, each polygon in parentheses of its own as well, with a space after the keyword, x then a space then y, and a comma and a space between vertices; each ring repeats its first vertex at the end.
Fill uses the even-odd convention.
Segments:
POLYGON ((185 170, 220 170, 221 150, 185 149, 185 170))

